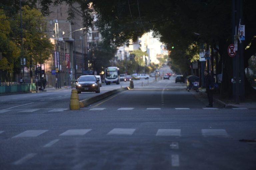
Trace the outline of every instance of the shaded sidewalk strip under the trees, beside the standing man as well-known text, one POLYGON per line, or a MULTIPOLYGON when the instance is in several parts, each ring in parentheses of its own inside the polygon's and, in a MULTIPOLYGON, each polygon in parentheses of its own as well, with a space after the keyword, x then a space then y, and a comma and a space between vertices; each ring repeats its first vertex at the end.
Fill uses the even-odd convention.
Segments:
MULTIPOLYGON (((207 93, 205 92, 206 89, 200 89, 199 94, 207 97, 207 93)), ((213 98, 213 102, 218 103, 224 108, 247 108, 247 109, 256 109, 256 103, 240 103, 239 105, 236 105, 235 103, 225 103, 221 101, 220 99, 213 98)))

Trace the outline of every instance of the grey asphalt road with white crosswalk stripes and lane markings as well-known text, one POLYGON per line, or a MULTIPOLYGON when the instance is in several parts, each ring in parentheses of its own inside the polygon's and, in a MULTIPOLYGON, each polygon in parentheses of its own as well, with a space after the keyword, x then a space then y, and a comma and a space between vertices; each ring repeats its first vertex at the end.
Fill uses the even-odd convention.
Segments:
POLYGON ((70 90, 1 96, 0 169, 256 169, 255 110, 209 110, 185 87, 138 84, 79 111, 64 110, 70 90))

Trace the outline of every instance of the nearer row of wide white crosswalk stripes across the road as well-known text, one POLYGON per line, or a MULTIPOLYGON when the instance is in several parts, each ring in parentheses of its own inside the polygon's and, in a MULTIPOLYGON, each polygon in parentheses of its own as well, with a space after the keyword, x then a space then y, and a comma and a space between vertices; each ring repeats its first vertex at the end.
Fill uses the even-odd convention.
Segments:
MULTIPOLYGON (((38 137, 42 135, 47 135, 47 132, 51 130, 44 129, 44 130, 26 130, 23 132, 20 132, 11 138, 28 138, 28 137, 38 137)), ((151 131, 151 130, 150 130, 151 131)), ((146 133, 147 135, 154 135, 157 137, 161 136, 173 136, 173 137, 182 137, 182 136, 188 136, 189 133, 186 131, 182 131, 182 129, 155 129, 150 134, 146 133), (155 132, 153 132, 155 131, 155 132), (183 132, 183 133, 182 133, 183 132)), ((140 129, 136 128, 113 128, 110 131, 105 131, 105 135, 124 135, 124 136, 131 136, 134 135, 137 132, 136 135, 142 135, 140 129)), ((4 135, 5 131, 0 131, 0 137, 1 135, 4 135)), ((51 133, 51 132, 50 132, 51 133)), ((99 131, 97 129, 68 129, 60 134, 57 134, 56 136, 84 136, 87 134, 93 135, 98 134, 99 131)), ((143 133, 144 134, 144 133, 143 133)), ((190 135, 202 135, 203 137, 229 137, 230 135, 227 133, 225 129, 201 129, 196 130, 196 132, 191 133, 190 135)), ((57 142, 57 141, 53 141, 57 142)))

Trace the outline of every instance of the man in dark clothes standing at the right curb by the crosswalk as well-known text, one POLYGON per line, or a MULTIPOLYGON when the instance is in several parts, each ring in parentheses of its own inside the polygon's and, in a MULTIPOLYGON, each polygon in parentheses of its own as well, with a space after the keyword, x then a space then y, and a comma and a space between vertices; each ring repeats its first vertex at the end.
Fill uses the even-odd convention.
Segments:
POLYGON ((204 71, 204 75, 205 75, 204 84, 206 88, 207 97, 209 100, 209 105, 206 107, 211 108, 213 107, 213 90, 214 90, 213 77, 209 75, 207 70, 204 71))

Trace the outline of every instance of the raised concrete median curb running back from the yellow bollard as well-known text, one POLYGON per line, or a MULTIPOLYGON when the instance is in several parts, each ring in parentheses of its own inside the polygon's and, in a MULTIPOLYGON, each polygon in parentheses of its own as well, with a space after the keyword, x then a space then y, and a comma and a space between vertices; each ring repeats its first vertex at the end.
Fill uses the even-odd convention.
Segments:
POLYGON ((113 94, 116 94, 116 93, 121 92, 121 91, 129 90, 129 89, 130 89, 129 87, 123 87, 123 88, 120 88, 120 89, 111 90, 111 91, 108 91, 106 93, 91 97, 89 99, 81 100, 79 102, 82 102, 84 104, 84 106, 86 107, 86 106, 91 105, 95 102, 98 102, 102 99, 105 99, 105 98, 107 98, 107 97, 109 97, 113 94))

